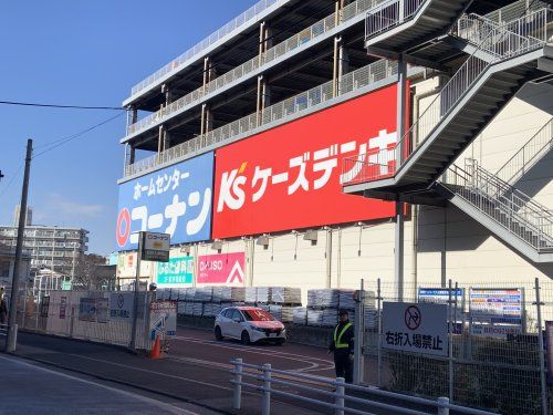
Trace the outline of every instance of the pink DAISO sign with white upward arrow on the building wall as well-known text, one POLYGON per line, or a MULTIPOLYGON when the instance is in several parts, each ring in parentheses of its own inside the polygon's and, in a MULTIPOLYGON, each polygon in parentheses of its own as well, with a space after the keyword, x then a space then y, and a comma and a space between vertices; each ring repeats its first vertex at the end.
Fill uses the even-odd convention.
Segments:
POLYGON ((198 278, 200 284, 243 286, 244 252, 216 253, 198 257, 198 278))

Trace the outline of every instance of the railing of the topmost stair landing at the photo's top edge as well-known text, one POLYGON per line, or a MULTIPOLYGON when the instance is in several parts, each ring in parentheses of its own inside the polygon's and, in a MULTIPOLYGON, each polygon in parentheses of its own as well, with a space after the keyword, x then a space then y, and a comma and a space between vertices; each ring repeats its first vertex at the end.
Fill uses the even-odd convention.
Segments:
POLYGON ((427 0, 388 0, 371 10, 365 20, 365 39, 410 20, 427 0))

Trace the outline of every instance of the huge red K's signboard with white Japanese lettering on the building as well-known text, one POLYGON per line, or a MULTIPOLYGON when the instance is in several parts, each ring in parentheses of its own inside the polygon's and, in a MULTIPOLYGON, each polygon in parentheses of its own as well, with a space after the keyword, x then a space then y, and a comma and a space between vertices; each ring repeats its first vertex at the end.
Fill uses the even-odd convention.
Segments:
POLYGON ((392 153, 396 102, 392 85, 218 149, 213 238, 394 216, 390 203, 343 194, 341 163, 392 153))

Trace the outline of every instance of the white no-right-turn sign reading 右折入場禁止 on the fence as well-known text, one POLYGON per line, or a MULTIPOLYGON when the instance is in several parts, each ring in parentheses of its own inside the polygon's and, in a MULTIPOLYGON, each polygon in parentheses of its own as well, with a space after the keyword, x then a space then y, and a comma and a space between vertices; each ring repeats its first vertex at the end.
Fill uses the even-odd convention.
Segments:
POLYGON ((384 302, 383 347, 447 356, 447 317, 445 304, 384 302))

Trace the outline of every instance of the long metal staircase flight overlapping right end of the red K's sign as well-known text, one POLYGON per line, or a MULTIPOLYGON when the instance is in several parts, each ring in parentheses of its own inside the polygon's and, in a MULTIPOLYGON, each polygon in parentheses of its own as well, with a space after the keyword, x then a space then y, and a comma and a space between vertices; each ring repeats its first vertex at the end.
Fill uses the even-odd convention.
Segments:
POLYGON ((499 24, 463 15, 457 35, 479 42, 474 53, 394 149, 344 159, 344 191, 397 199, 430 189, 525 82, 550 75, 538 66, 541 60, 553 62, 547 45, 552 17, 550 9, 541 9, 499 24))

